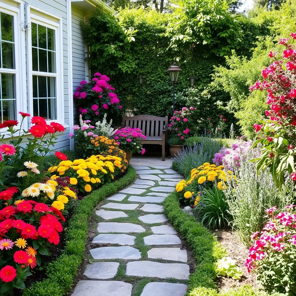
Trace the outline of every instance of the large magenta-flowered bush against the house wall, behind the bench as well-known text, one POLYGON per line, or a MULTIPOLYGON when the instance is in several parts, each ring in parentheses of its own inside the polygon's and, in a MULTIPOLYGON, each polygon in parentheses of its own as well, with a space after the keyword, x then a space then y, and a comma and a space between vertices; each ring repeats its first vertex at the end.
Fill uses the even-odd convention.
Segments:
POLYGON ((74 93, 73 97, 77 100, 80 114, 93 125, 102 120, 105 113, 107 119, 115 118, 122 109, 120 100, 114 93, 115 88, 108 83, 109 81, 109 77, 97 72, 91 82, 81 81, 74 93))

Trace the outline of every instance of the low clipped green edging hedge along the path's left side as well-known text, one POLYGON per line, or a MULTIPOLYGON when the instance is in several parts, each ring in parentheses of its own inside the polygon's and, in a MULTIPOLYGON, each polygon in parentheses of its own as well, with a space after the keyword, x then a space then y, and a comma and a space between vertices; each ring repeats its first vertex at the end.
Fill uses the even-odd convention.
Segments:
POLYGON ((136 177, 136 171, 128 165, 126 174, 84 197, 73 209, 73 216, 65 229, 65 248, 55 261, 46 267, 48 278, 38 281, 23 291, 23 296, 62 296, 67 294, 73 285, 73 280, 84 258, 88 223, 93 208, 106 197, 131 184, 136 177))

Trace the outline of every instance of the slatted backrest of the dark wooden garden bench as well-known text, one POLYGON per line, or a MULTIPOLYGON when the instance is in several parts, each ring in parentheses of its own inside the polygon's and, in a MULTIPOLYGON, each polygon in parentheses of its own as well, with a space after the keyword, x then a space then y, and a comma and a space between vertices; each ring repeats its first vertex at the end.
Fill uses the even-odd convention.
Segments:
POLYGON ((168 116, 152 115, 123 116, 122 127, 140 128, 147 137, 162 137, 163 129, 168 127, 168 116))

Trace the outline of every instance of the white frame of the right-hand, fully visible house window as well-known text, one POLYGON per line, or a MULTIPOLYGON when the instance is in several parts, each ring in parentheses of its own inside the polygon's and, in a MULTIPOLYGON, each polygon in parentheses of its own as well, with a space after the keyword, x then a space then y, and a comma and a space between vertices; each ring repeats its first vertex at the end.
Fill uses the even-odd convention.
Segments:
POLYGON ((37 14, 34 14, 31 9, 35 9, 36 11, 42 12, 45 14, 43 10, 40 8, 35 8, 32 5, 28 5, 27 9, 27 19, 31 24, 32 22, 42 25, 48 28, 55 30, 55 46, 56 46, 56 73, 47 73, 47 72, 39 72, 33 71, 32 69, 32 31, 28 30, 27 34, 27 68, 28 68, 28 104, 29 104, 29 113, 33 115, 33 78, 32 75, 39 76, 51 76, 56 77, 56 96, 57 96, 57 119, 55 120, 47 120, 48 123, 56 121, 61 124, 65 124, 65 114, 64 114, 64 76, 63 76, 63 36, 62 36, 62 18, 56 15, 51 15, 46 12, 48 18, 41 17, 37 14), (56 21, 54 20, 56 19, 56 21))

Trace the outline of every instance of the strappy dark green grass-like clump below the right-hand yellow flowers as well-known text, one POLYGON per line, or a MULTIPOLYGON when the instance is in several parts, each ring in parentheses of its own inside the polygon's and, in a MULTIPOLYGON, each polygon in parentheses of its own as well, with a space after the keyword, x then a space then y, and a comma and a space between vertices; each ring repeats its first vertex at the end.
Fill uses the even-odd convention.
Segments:
POLYGON ((216 186, 205 189, 194 207, 195 214, 209 229, 227 228, 232 216, 222 190, 216 186))

